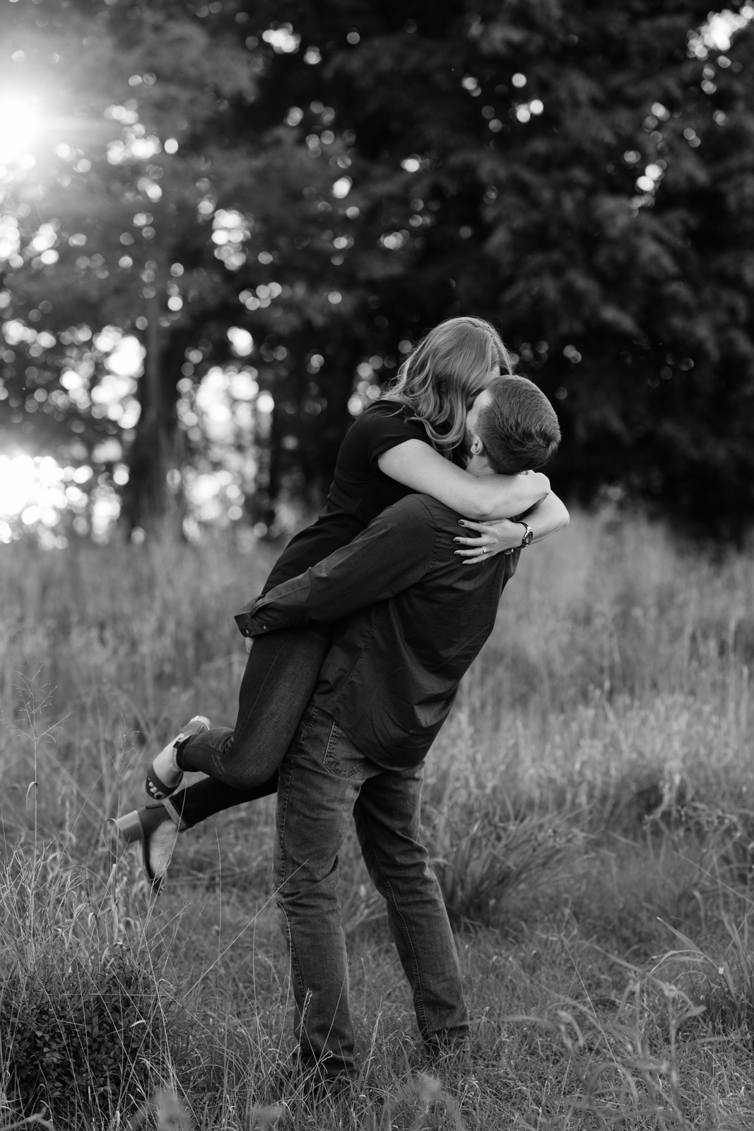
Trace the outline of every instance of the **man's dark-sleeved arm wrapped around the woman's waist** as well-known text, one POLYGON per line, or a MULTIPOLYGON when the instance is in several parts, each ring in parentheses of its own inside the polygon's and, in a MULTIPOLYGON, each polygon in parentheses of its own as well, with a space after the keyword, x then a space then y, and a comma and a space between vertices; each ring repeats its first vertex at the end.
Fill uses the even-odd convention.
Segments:
POLYGON ((414 585, 434 552, 435 525, 418 495, 382 511, 353 542, 235 614, 244 636, 331 623, 414 585))

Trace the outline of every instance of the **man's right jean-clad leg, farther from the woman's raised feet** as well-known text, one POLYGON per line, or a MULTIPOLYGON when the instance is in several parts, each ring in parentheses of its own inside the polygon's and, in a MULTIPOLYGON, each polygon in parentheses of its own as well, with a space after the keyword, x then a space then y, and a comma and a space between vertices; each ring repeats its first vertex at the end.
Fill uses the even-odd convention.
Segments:
POLYGON ((419 844, 423 766, 370 778, 356 802, 356 832, 414 993, 419 1033, 432 1052, 468 1039, 469 1018, 440 884, 419 844))

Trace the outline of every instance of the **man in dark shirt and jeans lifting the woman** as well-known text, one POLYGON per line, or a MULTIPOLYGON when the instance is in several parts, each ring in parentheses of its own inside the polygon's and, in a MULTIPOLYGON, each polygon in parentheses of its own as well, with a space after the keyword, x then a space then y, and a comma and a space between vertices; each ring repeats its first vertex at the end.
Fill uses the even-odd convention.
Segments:
MULTIPOLYGON (((536 405, 541 415, 546 406, 556 447, 552 406, 535 386, 522 382, 521 390, 523 385, 521 404, 515 396, 510 400, 511 431, 520 428, 521 413, 536 405)), ((484 407, 482 400, 469 414, 467 470, 478 476, 494 474, 476 431, 484 407)), ((338 853, 352 815, 370 875, 388 905, 425 1044, 430 1051, 453 1051, 468 1036, 453 936, 418 841, 423 762, 461 676, 489 636, 521 551, 463 569, 453 553, 458 523, 459 516, 434 499, 409 495, 349 545, 236 618, 249 636, 309 622, 336 625, 280 766, 275 845, 295 1033, 304 1065, 324 1080, 356 1072, 337 896, 338 853)), ((528 545, 535 532, 522 521, 521 533, 521 546, 528 545)))

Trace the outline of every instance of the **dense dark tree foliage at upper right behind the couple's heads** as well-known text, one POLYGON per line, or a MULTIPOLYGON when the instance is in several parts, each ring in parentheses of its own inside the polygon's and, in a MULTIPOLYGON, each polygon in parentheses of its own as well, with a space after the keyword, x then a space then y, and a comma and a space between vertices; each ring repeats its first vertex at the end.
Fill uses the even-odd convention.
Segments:
POLYGON ((500 319, 558 404, 566 490, 615 483, 728 530, 754 502, 742 11, 699 32, 702 3, 416 5, 328 60, 370 161, 365 227, 400 238, 390 323, 427 325, 424 293, 435 320, 500 319))

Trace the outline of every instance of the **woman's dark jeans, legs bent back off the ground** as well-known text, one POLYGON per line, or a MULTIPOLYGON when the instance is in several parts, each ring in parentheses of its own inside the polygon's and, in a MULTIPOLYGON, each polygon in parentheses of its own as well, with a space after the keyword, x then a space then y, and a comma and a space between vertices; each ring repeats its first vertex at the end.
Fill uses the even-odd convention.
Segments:
POLYGON ((208 774, 167 808, 191 828, 232 805, 277 789, 277 768, 291 745, 330 648, 330 629, 280 629, 254 638, 239 691, 235 729, 217 727, 177 750, 183 770, 208 774))

